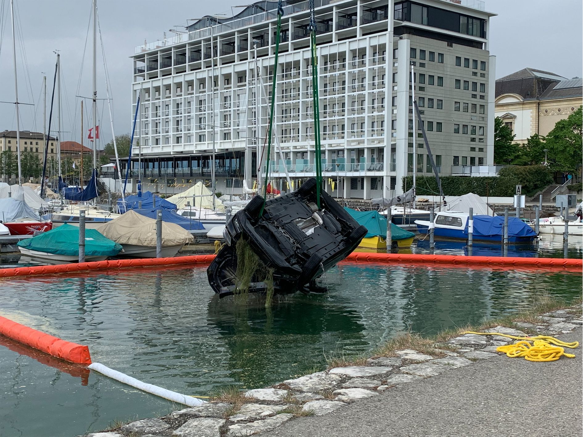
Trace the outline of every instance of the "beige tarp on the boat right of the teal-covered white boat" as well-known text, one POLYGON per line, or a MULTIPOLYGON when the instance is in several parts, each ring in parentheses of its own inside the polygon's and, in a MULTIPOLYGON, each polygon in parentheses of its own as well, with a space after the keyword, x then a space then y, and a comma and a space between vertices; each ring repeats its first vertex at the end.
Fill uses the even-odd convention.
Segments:
MULTIPOLYGON (((97 231, 119 244, 156 246, 156 220, 132 210, 99 225, 97 231)), ((162 246, 176 246, 192 241, 194 237, 184 228, 174 223, 162 222, 162 246)))

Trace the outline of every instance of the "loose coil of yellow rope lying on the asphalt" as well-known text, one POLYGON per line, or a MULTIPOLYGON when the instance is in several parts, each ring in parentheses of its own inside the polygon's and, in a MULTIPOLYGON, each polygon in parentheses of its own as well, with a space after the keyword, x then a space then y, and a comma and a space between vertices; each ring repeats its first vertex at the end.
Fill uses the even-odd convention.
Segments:
POLYGON ((466 331, 462 334, 476 334, 479 336, 501 336, 509 339, 519 340, 515 344, 507 344, 498 346, 498 352, 505 353, 508 357, 524 357, 528 361, 547 362, 557 361, 564 355, 567 358, 575 358, 574 354, 565 353, 564 347, 574 349, 579 346, 578 341, 568 343, 550 336, 535 336, 535 337, 517 337, 509 334, 501 334, 499 332, 473 332, 466 331), (532 343, 532 344, 531 344, 532 343), (552 343, 552 344, 551 344, 552 343), (553 344, 555 346, 553 346, 553 344))

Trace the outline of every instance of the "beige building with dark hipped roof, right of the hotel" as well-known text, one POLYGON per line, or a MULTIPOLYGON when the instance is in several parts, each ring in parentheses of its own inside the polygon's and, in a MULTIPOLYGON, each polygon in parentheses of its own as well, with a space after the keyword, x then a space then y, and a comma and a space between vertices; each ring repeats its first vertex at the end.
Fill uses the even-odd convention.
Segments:
POLYGON ((546 136, 557 121, 583 104, 583 79, 525 68, 496 80, 494 115, 512 129, 516 143, 546 136))

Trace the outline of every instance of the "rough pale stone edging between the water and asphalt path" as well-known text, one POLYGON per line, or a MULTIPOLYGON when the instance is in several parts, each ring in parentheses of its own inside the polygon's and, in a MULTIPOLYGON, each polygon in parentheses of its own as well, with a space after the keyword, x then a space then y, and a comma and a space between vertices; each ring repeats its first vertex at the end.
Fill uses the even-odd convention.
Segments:
MULTIPOLYGON (((539 320, 540 323, 536 325, 519 322, 517 326, 521 329, 535 330, 539 334, 557 336, 570 333, 583 325, 581 315, 573 315, 567 310, 546 313, 540 316, 539 320)), ((526 333, 521 330, 503 326, 487 329, 484 332, 526 336, 526 333)), ((294 415, 322 416, 351 403, 355 403, 356 406, 361 399, 373 402, 378 400, 386 404, 391 399, 389 397, 391 389, 396 392, 395 387, 422 382, 427 378, 458 368, 468 368, 475 362, 497 357, 500 354, 496 352, 496 347, 510 342, 514 340, 500 336, 465 334, 448 340, 451 350, 436 350, 437 357, 429 355, 428 351, 424 351, 425 353, 415 350, 396 351, 396 357, 371 358, 364 366, 333 368, 329 371, 286 380, 266 389, 249 390, 245 396, 250 399, 250 402, 238 409, 228 403, 205 403, 198 407, 174 411, 162 418, 138 420, 114 431, 93 433, 87 437, 240 437, 273 430, 276 430, 274 432, 277 434, 279 427, 291 420, 294 415)), ((580 355, 581 348, 576 350, 575 354, 580 355)), ((508 360, 511 359, 508 358, 508 360)), ((515 360, 519 359, 512 359, 512 361, 515 360)), ((559 361, 563 360, 568 359, 561 358, 559 361)), ((455 393, 461 393, 461 391, 463 391, 462 387, 454 387, 455 393)), ((479 400, 480 393, 472 393, 472 396, 479 400)), ((527 410, 528 407, 524 405, 527 410)), ((408 408, 415 411, 416 404, 413 403, 408 408)), ((375 412, 371 411, 371 414, 375 412)), ((334 415, 338 414, 334 413, 334 415)), ((317 421, 316 418, 311 419, 311 423, 317 421)), ((305 429, 301 432, 305 435, 319 435, 317 432, 311 433, 305 429)), ((415 434, 416 432, 412 431, 412 435, 415 434)), ((322 435, 329 435, 329 433, 322 435)))

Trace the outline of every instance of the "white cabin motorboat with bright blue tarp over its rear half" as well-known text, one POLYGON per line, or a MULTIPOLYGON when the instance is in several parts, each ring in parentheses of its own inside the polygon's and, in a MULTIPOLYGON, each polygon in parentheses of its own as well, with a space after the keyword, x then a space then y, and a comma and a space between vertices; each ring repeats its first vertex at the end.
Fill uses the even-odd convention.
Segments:
MULTIPOLYGON (((427 234, 431 222, 416 220, 417 231, 427 234)), ((504 217, 473 216, 472 239, 474 241, 501 242, 504 217)), ((441 239, 467 240, 469 214, 462 212, 438 212, 434 220, 434 237, 441 239)), ((508 217, 508 242, 530 243, 536 238, 535 231, 517 217, 508 217)))

